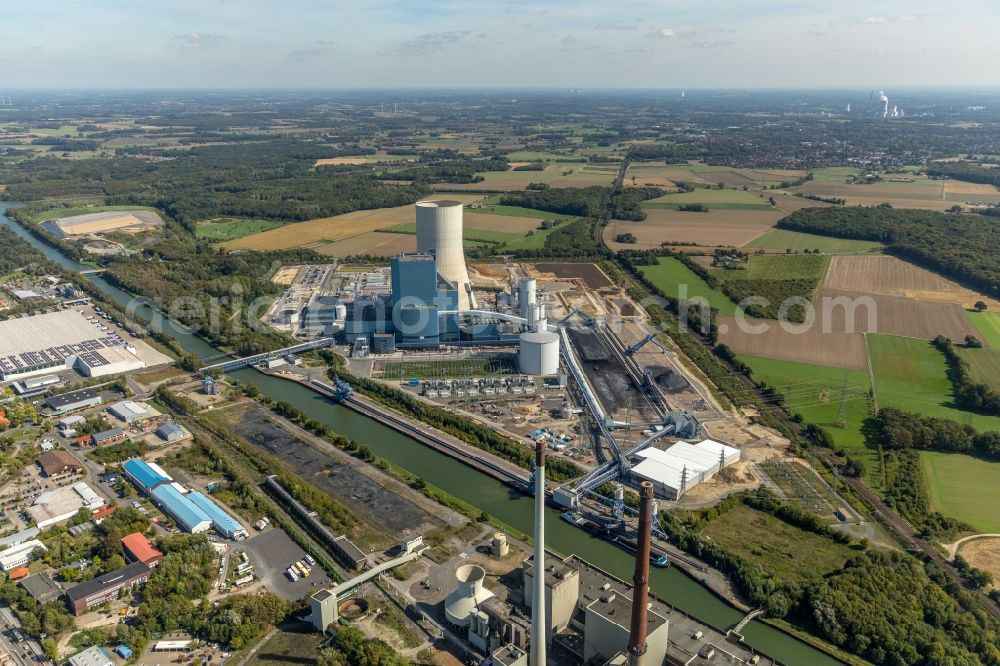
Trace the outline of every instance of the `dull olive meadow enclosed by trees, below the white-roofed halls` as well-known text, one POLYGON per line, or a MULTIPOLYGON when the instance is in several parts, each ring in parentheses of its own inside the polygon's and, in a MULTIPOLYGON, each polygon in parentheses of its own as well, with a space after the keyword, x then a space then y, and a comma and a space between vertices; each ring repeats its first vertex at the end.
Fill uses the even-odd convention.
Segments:
POLYGON ((716 518, 701 533, 787 581, 803 581, 817 573, 835 571, 854 554, 848 546, 746 506, 716 518))

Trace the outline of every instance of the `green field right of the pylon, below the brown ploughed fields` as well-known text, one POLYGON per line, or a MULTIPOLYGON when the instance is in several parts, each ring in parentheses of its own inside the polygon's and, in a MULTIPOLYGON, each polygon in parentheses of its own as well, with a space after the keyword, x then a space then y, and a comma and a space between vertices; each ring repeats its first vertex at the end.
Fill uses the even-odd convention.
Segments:
POLYGON ((952 406, 944 355, 930 341, 878 333, 868 333, 865 339, 879 407, 952 419, 981 431, 1000 430, 1000 417, 952 406))

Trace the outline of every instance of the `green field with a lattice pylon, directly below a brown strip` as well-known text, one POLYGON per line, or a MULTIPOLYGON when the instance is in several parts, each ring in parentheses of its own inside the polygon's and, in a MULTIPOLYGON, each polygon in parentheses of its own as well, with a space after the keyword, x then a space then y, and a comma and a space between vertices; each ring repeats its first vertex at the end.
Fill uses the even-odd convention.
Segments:
POLYGON ((861 434, 864 420, 871 416, 868 400, 871 383, 866 370, 845 370, 743 355, 740 360, 753 370, 754 380, 764 381, 782 393, 789 409, 801 414, 806 423, 825 428, 838 447, 867 452, 861 434), (837 423, 842 396, 846 398, 844 403, 847 408, 845 427, 837 423))

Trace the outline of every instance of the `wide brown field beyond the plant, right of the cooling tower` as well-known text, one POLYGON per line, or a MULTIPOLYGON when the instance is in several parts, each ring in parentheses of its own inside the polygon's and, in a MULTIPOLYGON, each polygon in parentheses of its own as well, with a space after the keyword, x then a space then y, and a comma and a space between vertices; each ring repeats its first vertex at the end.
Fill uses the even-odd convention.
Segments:
POLYGON ((604 228, 604 242, 612 250, 658 248, 663 243, 694 243, 703 247, 743 246, 761 236, 784 217, 770 210, 709 210, 682 212, 662 208, 645 209, 642 222, 612 221, 604 228), (618 234, 631 233, 635 243, 618 243, 618 234))

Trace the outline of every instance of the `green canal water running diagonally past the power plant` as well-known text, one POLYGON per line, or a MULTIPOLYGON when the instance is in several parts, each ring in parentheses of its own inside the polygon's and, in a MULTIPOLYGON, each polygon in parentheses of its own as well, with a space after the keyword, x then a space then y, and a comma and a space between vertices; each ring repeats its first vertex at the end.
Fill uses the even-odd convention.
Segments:
MULTIPOLYGON (((3 215, 8 207, 17 205, 0 202, 0 224, 10 226, 46 257, 68 270, 82 271, 90 268, 41 242, 3 215)), ((87 275, 86 278, 122 307, 134 300, 130 294, 110 284, 100 275, 87 275)), ((135 308, 135 312, 145 319, 158 317, 158 313, 149 306, 139 306, 135 308)), ((202 359, 214 359, 220 356, 218 349, 169 320, 163 320, 163 327, 165 333, 177 340, 188 353, 202 359)), ((253 384, 262 393, 275 400, 295 405, 310 418, 326 423, 336 432, 367 444, 379 456, 455 497, 496 516, 522 532, 531 533, 532 498, 515 492, 499 481, 429 449, 366 416, 341 405, 332 404, 304 386, 252 369, 240 370, 233 373, 233 376, 242 382, 253 384)), ((572 527, 560 519, 558 511, 546 509, 545 531, 547 547, 566 555, 578 555, 623 580, 631 579, 633 560, 627 553, 572 527)), ((715 597, 701 584, 674 567, 654 568, 651 572, 650 587, 660 598, 723 631, 739 622, 742 617, 738 610, 715 597)), ((760 621, 755 620, 747 625, 743 634, 749 645, 785 664, 809 666, 841 664, 839 660, 760 621)))

